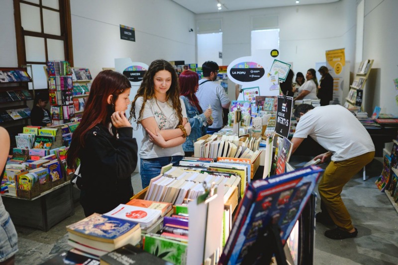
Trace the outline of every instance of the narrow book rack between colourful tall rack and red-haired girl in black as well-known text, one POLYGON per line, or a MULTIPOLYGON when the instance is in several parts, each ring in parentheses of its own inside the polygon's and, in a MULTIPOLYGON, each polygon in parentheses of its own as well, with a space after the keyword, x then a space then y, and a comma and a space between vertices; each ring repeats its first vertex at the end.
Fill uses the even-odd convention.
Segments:
POLYGON ((92 76, 88 68, 73 67, 73 107, 75 118, 81 118, 87 98, 89 97, 92 76))

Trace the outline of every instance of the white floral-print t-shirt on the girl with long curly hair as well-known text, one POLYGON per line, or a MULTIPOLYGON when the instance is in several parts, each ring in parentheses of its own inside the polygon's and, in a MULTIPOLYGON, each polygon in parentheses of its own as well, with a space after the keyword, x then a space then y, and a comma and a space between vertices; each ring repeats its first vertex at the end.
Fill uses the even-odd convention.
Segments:
MULTIPOLYGON (((187 118, 185 104, 182 99, 180 99, 180 102, 183 118, 187 118)), ((139 117, 142 103, 143 97, 137 98, 135 102, 135 117, 139 117)), ((171 100, 168 102, 160 102, 156 99, 147 100, 141 121, 150 117, 155 118, 156 123, 159 126, 159 130, 176 129, 179 123, 177 112, 173 109, 171 100)), ((182 144, 175 147, 162 148, 149 141, 149 135, 143 127, 142 133, 144 138, 142 139, 141 150, 139 152, 141 158, 149 159, 164 156, 185 155, 182 144)))

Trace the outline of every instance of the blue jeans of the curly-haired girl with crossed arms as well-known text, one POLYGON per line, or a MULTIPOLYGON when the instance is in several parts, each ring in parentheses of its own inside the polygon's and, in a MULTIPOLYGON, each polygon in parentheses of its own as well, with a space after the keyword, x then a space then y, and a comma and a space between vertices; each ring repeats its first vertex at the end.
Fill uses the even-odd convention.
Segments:
POLYGON ((149 159, 141 158, 140 175, 142 181, 142 188, 144 189, 148 187, 151 179, 156 176, 159 176, 160 169, 162 169, 163 166, 171 163, 173 164, 173 166, 178 166, 183 157, 184 156, 182 155, 175 155, 175 156, 164 156, 164 157, 149 158, 149 159))

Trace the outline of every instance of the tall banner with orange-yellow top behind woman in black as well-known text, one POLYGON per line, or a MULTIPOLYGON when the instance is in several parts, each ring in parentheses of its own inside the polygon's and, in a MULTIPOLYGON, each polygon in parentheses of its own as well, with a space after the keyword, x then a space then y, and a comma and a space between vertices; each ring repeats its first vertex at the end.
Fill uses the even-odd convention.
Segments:
POLYGON ((345 72, 345 53, 343 49, 326 51, 326 67, 333 77, 333 102, 340 104, 343 98, 343 81, 345 72))

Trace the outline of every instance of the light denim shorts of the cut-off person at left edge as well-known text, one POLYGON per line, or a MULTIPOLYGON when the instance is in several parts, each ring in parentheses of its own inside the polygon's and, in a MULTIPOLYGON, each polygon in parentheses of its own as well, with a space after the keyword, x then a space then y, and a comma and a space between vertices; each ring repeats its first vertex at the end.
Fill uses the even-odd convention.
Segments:
POLYGON ((15 255, 18 251, 17 243, 18 236, 14 224, 0 197, 0 263, 15 255))

